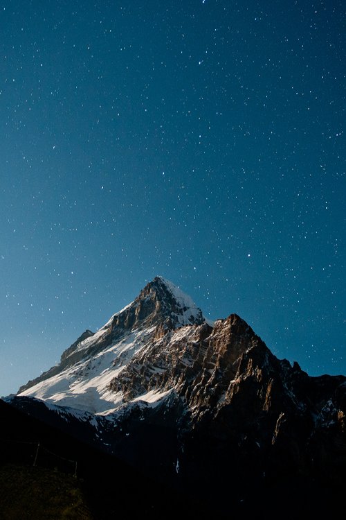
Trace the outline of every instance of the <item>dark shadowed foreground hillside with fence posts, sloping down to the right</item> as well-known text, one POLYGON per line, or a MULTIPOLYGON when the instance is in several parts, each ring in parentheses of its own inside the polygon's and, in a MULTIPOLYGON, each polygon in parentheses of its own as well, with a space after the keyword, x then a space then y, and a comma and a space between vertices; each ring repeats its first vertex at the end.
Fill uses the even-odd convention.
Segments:
POLYGON ((0 487, 1 520, 105 520, 124 514, 156 519, 167 504, 176 514, 181 508, 203 509, 1 400, 0 487))

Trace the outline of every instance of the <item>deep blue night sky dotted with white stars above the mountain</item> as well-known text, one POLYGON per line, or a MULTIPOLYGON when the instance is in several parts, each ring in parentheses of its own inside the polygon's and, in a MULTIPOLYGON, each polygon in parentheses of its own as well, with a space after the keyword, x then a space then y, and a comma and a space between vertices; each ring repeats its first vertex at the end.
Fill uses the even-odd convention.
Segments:
POLYGON ((0 0, 0 395, 156 275, 346 374, 344 7, 0 0))

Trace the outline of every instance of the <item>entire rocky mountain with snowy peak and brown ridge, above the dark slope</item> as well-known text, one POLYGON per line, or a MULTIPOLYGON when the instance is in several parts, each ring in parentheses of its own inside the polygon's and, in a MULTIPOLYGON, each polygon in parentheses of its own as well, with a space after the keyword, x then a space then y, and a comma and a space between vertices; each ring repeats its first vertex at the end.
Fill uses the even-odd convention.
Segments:
POLYGON ((346 485, 346 377, 277 359, 236 314, 207 322, 162 277, 7 400, 218 514, 330 515, 346 485))

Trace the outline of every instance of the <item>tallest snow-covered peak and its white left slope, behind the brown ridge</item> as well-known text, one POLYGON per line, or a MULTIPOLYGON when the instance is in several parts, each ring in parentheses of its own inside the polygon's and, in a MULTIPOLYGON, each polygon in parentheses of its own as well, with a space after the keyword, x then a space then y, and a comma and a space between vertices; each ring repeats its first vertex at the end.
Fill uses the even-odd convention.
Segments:
POLYGON ((110 382, 133 356, 167 331, 203 322, 202 311, 190 296, 171 281, 155 277, 98 331, 82 333, 62 353, 58 365, 21 387, 19 395, 107 413, 122 404, 122 395, 110 390, 110 382))

